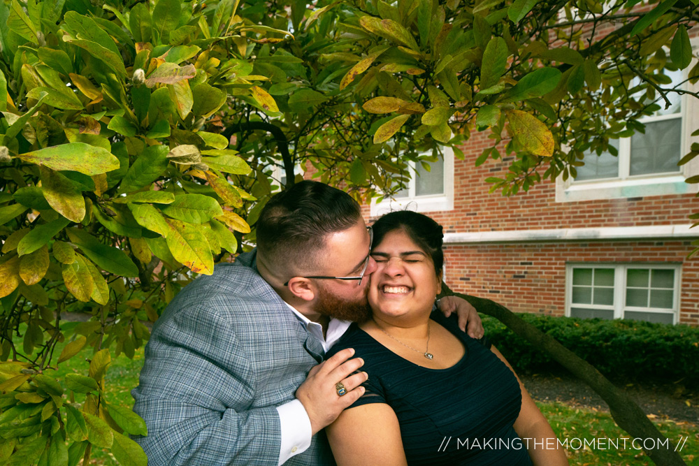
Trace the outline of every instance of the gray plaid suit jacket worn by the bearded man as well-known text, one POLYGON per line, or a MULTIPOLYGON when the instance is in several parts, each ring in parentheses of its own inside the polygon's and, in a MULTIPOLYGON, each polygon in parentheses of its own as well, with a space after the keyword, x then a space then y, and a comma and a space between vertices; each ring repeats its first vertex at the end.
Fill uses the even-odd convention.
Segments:
MULTIPOLYGON (((257 273, 255 254, 197 278, 153 327, 131 392, 150 466, 278 463, 275 407, 294 399, 323 349, 257 273)), ((285 464, 334 461, 321 432, 285 464)))

